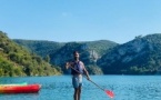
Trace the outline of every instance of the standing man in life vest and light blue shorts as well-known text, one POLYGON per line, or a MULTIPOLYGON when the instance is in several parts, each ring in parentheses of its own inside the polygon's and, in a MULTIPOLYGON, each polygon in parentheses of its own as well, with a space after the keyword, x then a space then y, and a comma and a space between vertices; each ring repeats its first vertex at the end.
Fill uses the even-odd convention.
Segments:
POLYGON ((87 71, 84 63, 79 60, 79 52, 73 52, 73 61, 66 63, 66 69, 71 69, 72 74, 72 86, 74 88, 73 99, 80 100, 81 88, 82 88, 82 76, 87 76, 87 79, 90 80, 89 72, 87 71))

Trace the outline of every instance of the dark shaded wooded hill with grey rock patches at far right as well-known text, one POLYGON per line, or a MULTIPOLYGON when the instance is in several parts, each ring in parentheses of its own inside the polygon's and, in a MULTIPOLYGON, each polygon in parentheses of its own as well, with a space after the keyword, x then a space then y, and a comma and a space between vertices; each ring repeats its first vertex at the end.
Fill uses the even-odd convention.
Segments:
POLYGON ((135 37, 113 48, 98 66, 107 74, 161 74, 161 33, 135 37))

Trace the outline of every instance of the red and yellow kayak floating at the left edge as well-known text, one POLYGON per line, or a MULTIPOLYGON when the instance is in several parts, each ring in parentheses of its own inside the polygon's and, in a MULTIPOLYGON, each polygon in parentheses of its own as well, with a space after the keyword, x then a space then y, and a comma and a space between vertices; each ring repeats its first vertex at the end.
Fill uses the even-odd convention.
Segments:
POLYGON ((40 88, 41 84, 0 86, 0 93, 36 93, 40 88))

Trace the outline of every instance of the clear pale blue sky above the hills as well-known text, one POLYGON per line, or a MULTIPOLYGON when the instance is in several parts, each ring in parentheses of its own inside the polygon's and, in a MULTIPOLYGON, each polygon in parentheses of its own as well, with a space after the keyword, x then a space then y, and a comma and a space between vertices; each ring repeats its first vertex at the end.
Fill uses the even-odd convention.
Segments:
POLYGON ((10 39, 125 43, 161 33, 161 0, 0 0, 0 30, 10 39))

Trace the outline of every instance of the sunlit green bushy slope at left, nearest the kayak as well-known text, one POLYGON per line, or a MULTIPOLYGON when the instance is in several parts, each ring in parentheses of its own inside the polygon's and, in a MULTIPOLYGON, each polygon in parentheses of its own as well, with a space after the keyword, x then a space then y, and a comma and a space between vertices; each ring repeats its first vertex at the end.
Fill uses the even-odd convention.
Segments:
POLYGON ((29 52, 0 31, 0 77, 60 74, 59 68, 29 52))

